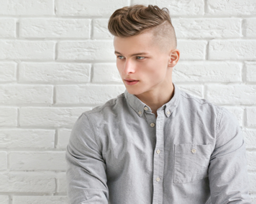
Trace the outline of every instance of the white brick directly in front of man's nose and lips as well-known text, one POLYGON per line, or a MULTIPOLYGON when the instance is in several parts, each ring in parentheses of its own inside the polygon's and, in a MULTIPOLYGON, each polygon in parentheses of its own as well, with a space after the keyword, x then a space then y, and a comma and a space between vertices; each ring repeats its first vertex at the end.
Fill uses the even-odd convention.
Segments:
POLYGON ((115 63, 97 63, 93 65, 93 82, 122 83, 115 63))

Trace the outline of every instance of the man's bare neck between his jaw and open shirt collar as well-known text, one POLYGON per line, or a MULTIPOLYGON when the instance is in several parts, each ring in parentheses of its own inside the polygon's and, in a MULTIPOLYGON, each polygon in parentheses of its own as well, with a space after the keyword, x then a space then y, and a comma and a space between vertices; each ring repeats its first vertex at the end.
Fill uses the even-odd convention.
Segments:
POLYGON ((152 90, 136 96, 157 116, 157 110, 174 96, 174 86, 171 83, 162 90, 152 90))

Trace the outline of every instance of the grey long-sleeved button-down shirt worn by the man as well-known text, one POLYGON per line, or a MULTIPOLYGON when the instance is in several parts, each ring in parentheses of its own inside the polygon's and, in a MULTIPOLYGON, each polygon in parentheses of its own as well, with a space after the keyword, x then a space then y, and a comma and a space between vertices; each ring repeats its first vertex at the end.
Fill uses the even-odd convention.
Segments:
POLYGON ((237 120, 174 86, 157 118, 127 91, 78 118, 67 148, 72 204, 250 203, 237 120))

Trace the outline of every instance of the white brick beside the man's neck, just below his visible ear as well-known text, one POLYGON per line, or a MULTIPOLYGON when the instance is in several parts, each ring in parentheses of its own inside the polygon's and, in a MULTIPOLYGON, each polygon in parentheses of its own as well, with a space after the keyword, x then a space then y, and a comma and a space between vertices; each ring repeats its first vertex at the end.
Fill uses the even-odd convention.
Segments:
POLYGON ((242 63, 179 62, 173 69, 176 82, 241 82, 242 63))

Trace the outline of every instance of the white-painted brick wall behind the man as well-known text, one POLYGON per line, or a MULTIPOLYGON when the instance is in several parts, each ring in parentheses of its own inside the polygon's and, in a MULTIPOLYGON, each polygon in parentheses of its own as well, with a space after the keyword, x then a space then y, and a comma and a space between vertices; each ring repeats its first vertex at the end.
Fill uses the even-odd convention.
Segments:
POLYGON ((124 91, 107 25, 131 4, 169 9, 181 50, 174 82, 238 118, 256 204, 255 0, 2 0, 0 204, 68 203, 72 126, 124 91))

